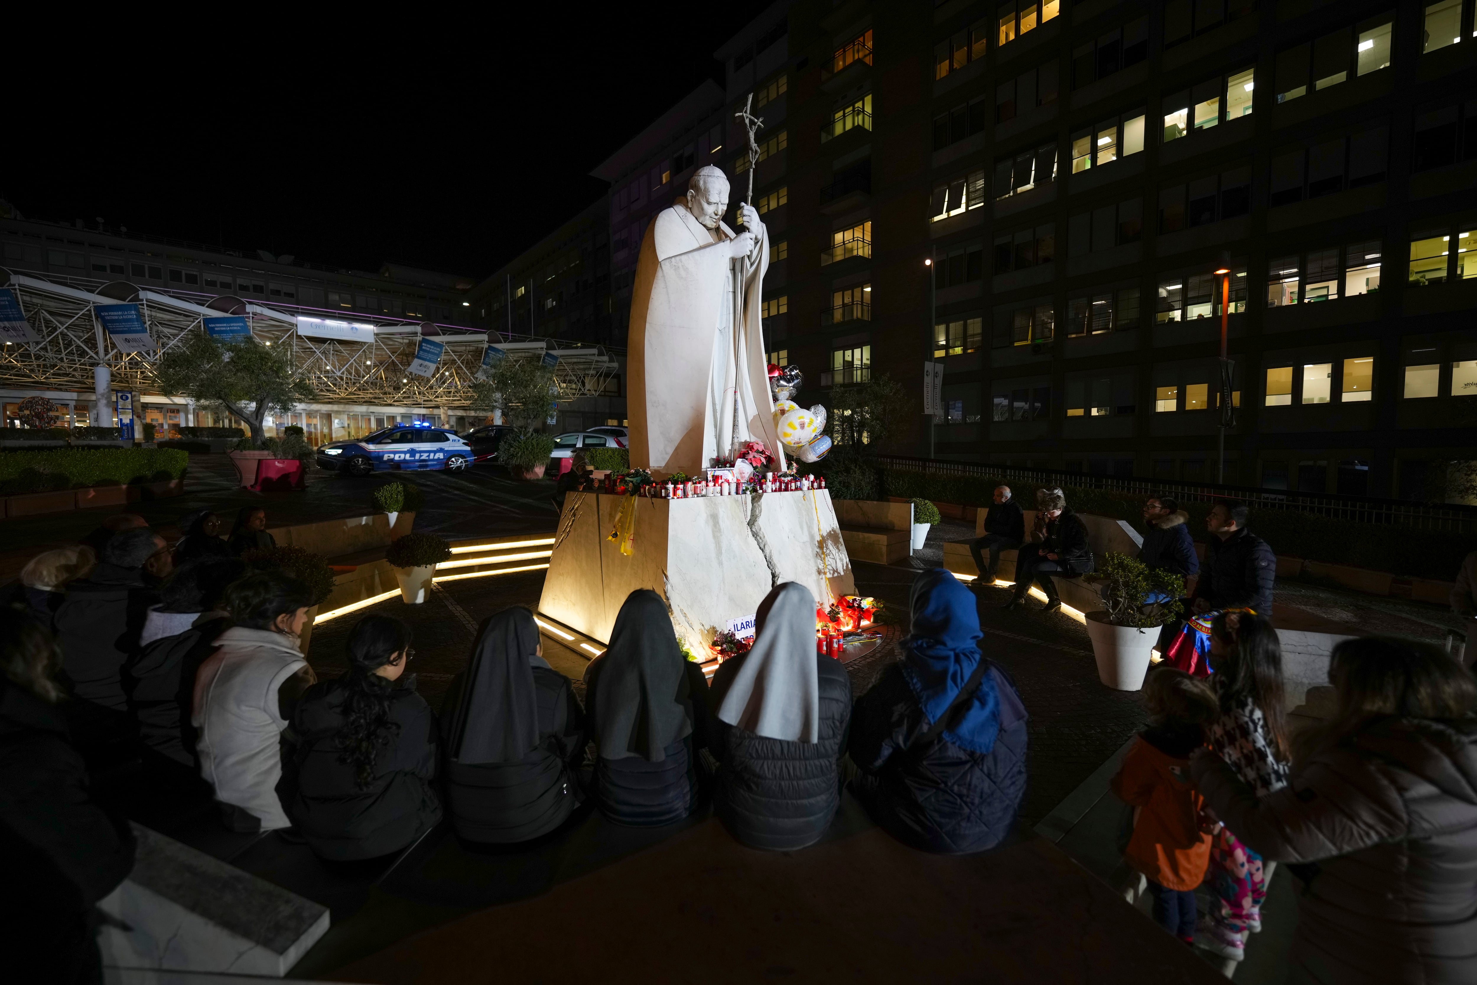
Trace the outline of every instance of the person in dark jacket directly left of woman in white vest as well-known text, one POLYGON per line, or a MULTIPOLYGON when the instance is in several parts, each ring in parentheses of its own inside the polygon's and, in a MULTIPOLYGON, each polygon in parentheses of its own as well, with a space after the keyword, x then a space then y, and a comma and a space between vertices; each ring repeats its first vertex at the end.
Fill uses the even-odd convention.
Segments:
POLYGON ((140 644, 143 651, 126 669, 133 681, 128 710, 139 737, 154 752, 195 768, 198 735, 191 724, 195 672, 216 639, 230 628, 222 608, 226 588, 245 574, 232 557, 186 561, 160 588, 158 605, 149 608, 140 644))

